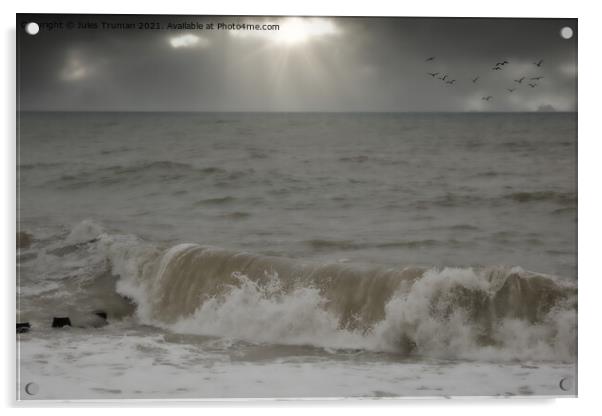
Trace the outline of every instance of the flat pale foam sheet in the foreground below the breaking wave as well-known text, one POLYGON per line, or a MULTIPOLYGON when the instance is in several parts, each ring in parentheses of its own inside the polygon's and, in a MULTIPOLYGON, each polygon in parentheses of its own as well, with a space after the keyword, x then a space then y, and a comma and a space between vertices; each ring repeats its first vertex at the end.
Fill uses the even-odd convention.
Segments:
POLYGON ((574 395, 572 364, 362 361, 322 356, 232 360, 228 345, 166 342, 109 326, 22 337, 20 398, 137 399, 574 395), (57 383, 60 380, 60 383, 57 383), (24 386, 39 386, 28 396, 24 386))

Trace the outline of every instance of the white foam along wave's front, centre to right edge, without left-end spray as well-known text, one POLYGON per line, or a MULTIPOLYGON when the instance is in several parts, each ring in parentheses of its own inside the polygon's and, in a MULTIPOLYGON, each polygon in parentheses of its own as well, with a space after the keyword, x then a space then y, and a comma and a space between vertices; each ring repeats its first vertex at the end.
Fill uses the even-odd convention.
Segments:
POLYGON ((576 313, 556 309, 539 324, 503 319, 494 324, 495 345, 482 345, 480 327, 469 322, 462 309, 442 318, 433 313, 433 300, 441 299, 454 285, 488 290, 489 283, 471 269, 429 271, 409 292, 396 294, 385 306, 385 319, 366 333, 340 328, 336 315, 326 308, 327 299, 315 288, 281 291, 278 276, 259 286, 246 276, 223 296, 206 299, 191 316, 175 324, 155 324, 172 331, 213 335, 259 343, 312 345, 329 349, 365 349, 412 352, 445 359, 566 361, 575 357, 576 313), (415 343, 406 350, 404 340, 415 343))

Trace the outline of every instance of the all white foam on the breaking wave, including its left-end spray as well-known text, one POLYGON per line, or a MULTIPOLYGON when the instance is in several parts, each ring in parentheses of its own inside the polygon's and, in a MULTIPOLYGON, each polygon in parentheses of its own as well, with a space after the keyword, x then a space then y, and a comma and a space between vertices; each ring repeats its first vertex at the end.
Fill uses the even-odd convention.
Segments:
MULTIPOLYGON (((76 228, 96 229, 88 223, 76 228)), ((87 238, 95 233, 72 234, 87 238)), ((486 361, 573 361, 576 355, 576 311, 569 304, 557 305, 538 323, 499 319, 492 323, 493 342, 482 342, 481 326, 453 304, 453 289, 493 294, 505 281, 507 269, 499 273, 470 268, 428 270, 416 281, 405 281, 384 305, 384 319, 364 331, 342 328, 340 316, 329 308, 331 299, 318 288, 300 285, 285 291, 277 273, 270 274, 267 283, 258 276, 236 275, 236 284, 218 295, 201 294, 193 313, 163 322, 155 310, 161 295, 156 293, 162 287, 159 283, 168 267, 183 258, 181 254, 200 246, 179 244, 163 250, 135 236, 100 234, 99 238, 98 255, 108 259, 111 272, 120 276, 117 291, 136 302, 138 318, 175 332, 486 361)), ((170 278, 178 277, 176 272, 170 278)))

